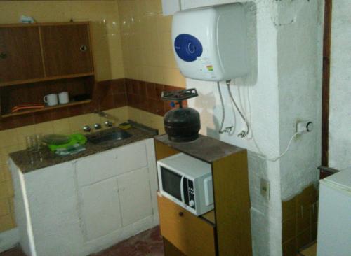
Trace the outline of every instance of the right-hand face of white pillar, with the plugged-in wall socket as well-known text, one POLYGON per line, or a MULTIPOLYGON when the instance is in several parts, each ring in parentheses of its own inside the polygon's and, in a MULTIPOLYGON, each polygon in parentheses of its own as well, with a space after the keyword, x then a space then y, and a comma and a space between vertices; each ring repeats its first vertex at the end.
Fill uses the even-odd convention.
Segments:
POLYGON ((278 5, 279 141, 285 148, 297 120, 314 129, 298 136, 280 161, 282 200, 317 183, 320 165, 323 1, 281 1, 278 5))

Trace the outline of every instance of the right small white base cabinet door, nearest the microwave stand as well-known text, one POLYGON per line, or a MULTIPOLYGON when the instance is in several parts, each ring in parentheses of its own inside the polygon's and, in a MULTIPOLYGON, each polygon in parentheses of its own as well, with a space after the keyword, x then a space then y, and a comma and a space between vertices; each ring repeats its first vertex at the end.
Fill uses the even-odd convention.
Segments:
POLYGON ((152 215, 148 169, 131 171, 118 177, 123 225, 152 215))

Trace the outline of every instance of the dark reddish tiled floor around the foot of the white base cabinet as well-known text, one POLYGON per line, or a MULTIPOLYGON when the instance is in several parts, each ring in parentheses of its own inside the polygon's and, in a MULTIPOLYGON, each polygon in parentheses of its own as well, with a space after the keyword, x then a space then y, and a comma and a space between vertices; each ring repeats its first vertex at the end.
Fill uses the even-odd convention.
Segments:
MULTIPOLYGON (((0 253, 0 256, 25 256, 25 254, 15 248, 0 253)), ((91 256, 164 256, 164 244, 159 227, 154 227, 91 256)))

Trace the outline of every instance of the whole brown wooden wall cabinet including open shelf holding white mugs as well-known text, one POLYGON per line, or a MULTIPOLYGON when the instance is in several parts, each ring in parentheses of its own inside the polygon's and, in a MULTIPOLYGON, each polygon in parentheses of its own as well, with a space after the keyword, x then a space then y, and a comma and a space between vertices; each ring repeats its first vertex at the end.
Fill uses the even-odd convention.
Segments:
POLYGON ((94 87, 89 22, 0 24, 0 118, 87 104, 94 87), (14 106, 43 104, 46 94, 59 92, 86 96, 62 106, 11 112, 14 106))

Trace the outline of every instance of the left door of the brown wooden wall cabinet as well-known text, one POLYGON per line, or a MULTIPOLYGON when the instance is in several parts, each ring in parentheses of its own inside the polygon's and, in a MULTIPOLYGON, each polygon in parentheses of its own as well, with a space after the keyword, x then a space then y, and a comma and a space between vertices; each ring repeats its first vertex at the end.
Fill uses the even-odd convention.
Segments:
POLYGON ((44 77, 38 27, 0 27, 0 83, 44 77))

